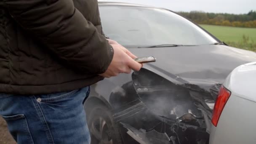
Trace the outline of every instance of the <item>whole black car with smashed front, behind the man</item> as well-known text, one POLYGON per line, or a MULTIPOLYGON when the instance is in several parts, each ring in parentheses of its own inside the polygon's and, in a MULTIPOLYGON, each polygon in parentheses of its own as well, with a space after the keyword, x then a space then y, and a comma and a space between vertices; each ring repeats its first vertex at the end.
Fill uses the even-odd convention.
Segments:
POLYGON ((99 2, 99 10, 107 37, 157 61, 91 86, 92 144, 207 144, 221 84, 256 53, 229 47, 167 9, 99 2))

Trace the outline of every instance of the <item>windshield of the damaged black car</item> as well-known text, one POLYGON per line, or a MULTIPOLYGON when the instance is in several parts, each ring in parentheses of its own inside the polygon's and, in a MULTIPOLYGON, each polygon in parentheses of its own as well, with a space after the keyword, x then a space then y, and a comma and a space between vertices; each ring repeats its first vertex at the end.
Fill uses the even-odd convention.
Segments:
POLYGON ((218 43, 189 20, 160 8, 100 6, 104 34, 126 47, 218 43))

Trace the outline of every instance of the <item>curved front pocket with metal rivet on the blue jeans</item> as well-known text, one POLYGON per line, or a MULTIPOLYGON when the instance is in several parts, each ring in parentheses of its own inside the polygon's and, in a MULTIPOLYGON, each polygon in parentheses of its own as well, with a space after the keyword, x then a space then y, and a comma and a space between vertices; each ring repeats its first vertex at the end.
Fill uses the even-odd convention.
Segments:
POLYGON ((79 89, 69 91, 69 92, 53 93, 53 94, 48 94, 48 95, 36 96, 36 97, 37 97, 38 102, 53 103, 53 102, 62 101, 65 98, 71 97, 77 91, 79 91, 79 89))

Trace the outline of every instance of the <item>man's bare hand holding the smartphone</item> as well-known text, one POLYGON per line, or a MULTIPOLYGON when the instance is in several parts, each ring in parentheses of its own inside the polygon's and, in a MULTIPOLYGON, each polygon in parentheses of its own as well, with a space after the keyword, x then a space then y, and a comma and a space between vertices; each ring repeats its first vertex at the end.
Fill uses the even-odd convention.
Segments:
POLYGON ((136 58, 130 51, 119 44, 112 44, 114 49, 113 59, 106 72, 101 74, 103 77, 117 76, 120 73, 131 73, 131 69, 139 71, 142 64, 134 61, 136 58))

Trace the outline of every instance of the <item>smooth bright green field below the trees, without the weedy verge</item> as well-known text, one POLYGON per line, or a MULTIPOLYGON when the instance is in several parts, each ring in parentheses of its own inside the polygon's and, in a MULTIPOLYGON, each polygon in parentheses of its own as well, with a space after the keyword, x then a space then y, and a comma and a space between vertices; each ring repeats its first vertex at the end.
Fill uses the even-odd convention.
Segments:
POLYGON ((242 40, 243 35, 250 37, 250 39, 256 42, 256 28, 225 27, 206 24, 201 24, 200 26, 224 42, 238 42, 242 40))

